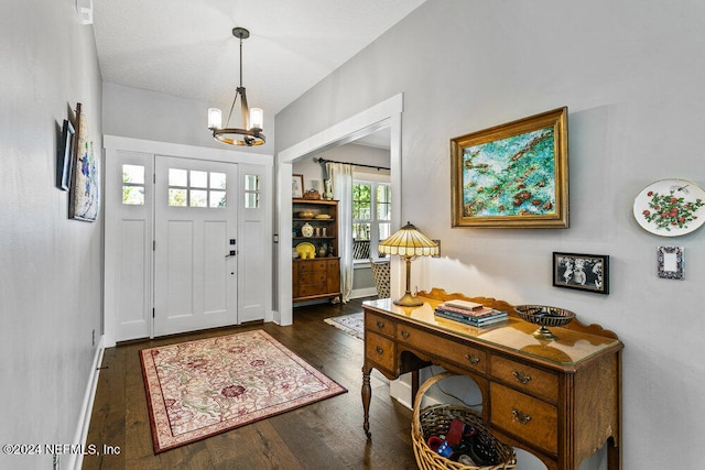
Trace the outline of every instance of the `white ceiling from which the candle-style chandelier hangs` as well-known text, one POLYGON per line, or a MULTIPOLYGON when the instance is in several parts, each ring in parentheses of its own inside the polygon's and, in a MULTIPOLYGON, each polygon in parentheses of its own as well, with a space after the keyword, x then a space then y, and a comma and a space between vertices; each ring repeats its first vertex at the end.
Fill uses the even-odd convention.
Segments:
MULTIPOLYGON (((425 0, 94 0, 105 81, 229 110, 239 84, 264 123, 425 0)), ((204 119, 205 119, 204 110, 204 119)))

